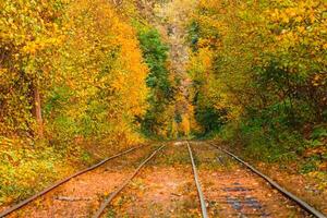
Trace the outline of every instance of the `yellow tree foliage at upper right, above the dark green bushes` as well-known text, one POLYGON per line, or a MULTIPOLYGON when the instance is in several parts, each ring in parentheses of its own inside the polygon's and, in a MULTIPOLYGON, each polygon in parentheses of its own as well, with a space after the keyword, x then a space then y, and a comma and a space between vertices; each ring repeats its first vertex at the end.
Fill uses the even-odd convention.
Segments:
POLYGON ((276 68, 323 88, 326 77, 317 75, 327 65, 326 9, 320 0, 201 0, 194 14, 201 29, 198 50, 189 64, 192 78, 201 82, 197 92, 205 96, 201 104, 227 109, 231 120, 247 105, 266 104, 250 84, 258 76, 255 68, 265 69, 271 60, 276 68))

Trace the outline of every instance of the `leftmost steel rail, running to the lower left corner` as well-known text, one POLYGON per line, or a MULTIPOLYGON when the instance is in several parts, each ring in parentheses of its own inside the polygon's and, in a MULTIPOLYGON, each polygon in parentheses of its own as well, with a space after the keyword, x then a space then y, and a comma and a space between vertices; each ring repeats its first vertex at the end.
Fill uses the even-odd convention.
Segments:
POLYGON ((70 177, 68 177, 68 178, 65 178, 65 179, 63 179, 63 180, 60 180, 60 181, 56 182, 55 184, 52 184, 52 185, 46 187, 45 190, 40 191, 39 193, 36 193, 35 195, 33 195, 33 196, 31 196, 31 197, 28 197, 28 198, 26 198, 26 199, 20 202, 19 204, 16 204, 16 205, 14 205, 14 206, 12 206, 12 207, 5 209, 4 211, 0 213, 0 218, 10 215, 11 213, 13 213, 13 211, 20 209, 21 207, 24 207, 25 205, 27 205, 28 203, 33 202, 33 201, 36 199, 37 197, 47 194, 48 192, 52 191, 53 189, 58 187, 59 185, 61 185, 61 184, 63 184, 63 183, 66 183, 66 182, 70 181, 71 179, 76 178, 76 177, 78 177, 78 175, 81 175, 81 174, 84 174, 84 173, 86 173, 86 172, 89 172, 89 171, 92 171, 92 170, 94 170, 94 169, 96 169, 96 168, 98 168, 98 167, 105 165, 105 164, 108 162, 109 160, 112 160, 112 159, 114 159, 114 158, 118 158, 118 157, 121 157, 121 156, 123 156, 123 155, 126 155, 126 154, 129 154, 129 153, 131 153, 131 152, 133 152, 133 150, 135 150, 135 149, 142 148, 142 147, 144 147, 144 146, 145 146, 145 145, 141 145, 141 146, 132 147, 132 148, 130 148, 130 149, 128 149, 128 150, 121 152, 121 153, 119 153, 119 154, 117 154, 117 155, 113 155, 113 156, 111 156, 111 157, 108 157, 108 158, 101 160, 100 162, 98 162, 98 164, 96 164, 96 165, 94 165, 94 166, 92 166, 92 167, 89 167, 89 168, 86 168, 86 169, 84 169, 84 170, 82 170, 82 171, 78 171, 78 172, 76 172, 76 173, 74 173, 74 174, 72 174, 72 175, 70 175, 70 177))

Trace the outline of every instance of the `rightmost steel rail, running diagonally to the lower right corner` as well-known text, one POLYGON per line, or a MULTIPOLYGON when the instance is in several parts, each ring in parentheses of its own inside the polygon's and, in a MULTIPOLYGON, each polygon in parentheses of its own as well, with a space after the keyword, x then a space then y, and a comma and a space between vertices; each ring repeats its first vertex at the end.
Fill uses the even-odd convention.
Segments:
POLYGON ((234 158, 235 160, 238 160, 239 162, 241 162, 242 165, 244 165, 245 167, 247 167, 252 172, 254 172, 255 174, 259 175, 261 178, 265 179, 272 187, 275 187, 276 190, 278 190, 280 193, 282 193, 284 196, 287 196, 288 198, 290 198, 291 201, 295 202, 301 208, 305 209, 307 213, 314 215, 317 218, 326 218, 326 215, 324 215, 323 213, 318 211, 317 209, 315 209, 314 207, 312 207, 311 205, 308 205, 306 202, 304 202, 303 199, 299 198, 298 196, 295 196, 294 194, 292 194, 291 192, 287 191, 284 187, 280 186, 277 182, 275 182, 271 178, 269 178, 268 175, 262 173, 261 171, 258 171, 256 168, 252 167, 250 164, 245 162, 244 160, 242 160, 241 158, 239 158, 238 156, 235 156, 234 154, 213 144, 213 143, 208 143, 209 145, 216 147, 217 149, 226 153, 227 155, 229 155, 230 157, 234 158))

